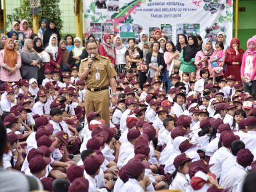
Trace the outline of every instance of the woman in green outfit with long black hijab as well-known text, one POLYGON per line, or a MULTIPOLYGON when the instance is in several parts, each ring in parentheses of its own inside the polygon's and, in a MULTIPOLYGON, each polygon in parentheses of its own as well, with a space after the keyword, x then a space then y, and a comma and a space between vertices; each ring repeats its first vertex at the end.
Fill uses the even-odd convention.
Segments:
POLYGON ((179 61, 181 61, 181 67, 179 68, 179 76, 181 77, 181 81, 183 72, 189 73, 190 80, 193 80, 193 77, 195 77, 195 71, 197 70, 194 64, 195 55, 198 51, 197 37, 195 37, 195 35, 190 35, 188 39, 188 45, 183 47, 179 57, 179 61))

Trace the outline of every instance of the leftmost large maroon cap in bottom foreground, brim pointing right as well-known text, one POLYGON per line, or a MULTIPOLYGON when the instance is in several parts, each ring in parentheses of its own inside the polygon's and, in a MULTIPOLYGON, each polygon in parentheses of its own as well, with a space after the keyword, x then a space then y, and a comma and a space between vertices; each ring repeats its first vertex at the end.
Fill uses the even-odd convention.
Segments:
POLYGON ((36 155, 29 162, 29 169, 31 173, 38 173, 45 169, 47 165, 51 162, 51 158, 42 157, 41 155, 36 155))

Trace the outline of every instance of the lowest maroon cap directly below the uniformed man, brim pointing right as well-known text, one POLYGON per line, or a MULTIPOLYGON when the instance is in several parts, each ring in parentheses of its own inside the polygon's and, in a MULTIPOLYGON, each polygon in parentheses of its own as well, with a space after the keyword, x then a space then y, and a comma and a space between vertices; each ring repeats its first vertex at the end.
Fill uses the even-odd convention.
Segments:
POLYGON ((89 175, 94 175, 99 167, 101 167, 104 160, 105 158, 103 157, 103 155, 90 155, 89 157, 87 157, 83 162, 86 173, 89 175))

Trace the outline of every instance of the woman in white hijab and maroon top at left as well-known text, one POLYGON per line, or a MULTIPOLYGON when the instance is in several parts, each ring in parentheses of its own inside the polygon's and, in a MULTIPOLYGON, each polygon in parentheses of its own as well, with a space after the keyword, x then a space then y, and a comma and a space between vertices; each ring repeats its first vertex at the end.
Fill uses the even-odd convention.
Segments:
POLYGON ((50 62, 46 63, 45 69, 49 69, 50 71, 57 70, 59 71, 59 75, 62 77, 61 64, 63 55, 61 48, 58 47, 57 43, 57 37, 51 36, 49 45, 45 48, 45 51, 50 55, 50 62))

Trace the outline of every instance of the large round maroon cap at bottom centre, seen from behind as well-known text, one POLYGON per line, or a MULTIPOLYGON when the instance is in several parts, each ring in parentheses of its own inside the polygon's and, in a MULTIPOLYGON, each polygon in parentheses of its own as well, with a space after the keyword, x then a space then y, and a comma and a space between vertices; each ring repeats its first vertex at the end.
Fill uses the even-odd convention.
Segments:
POLYGON ((129 178, 138 177, 144 170, 145 166, 138 158, 133 158, 126 164, 126 174, 129 178))

